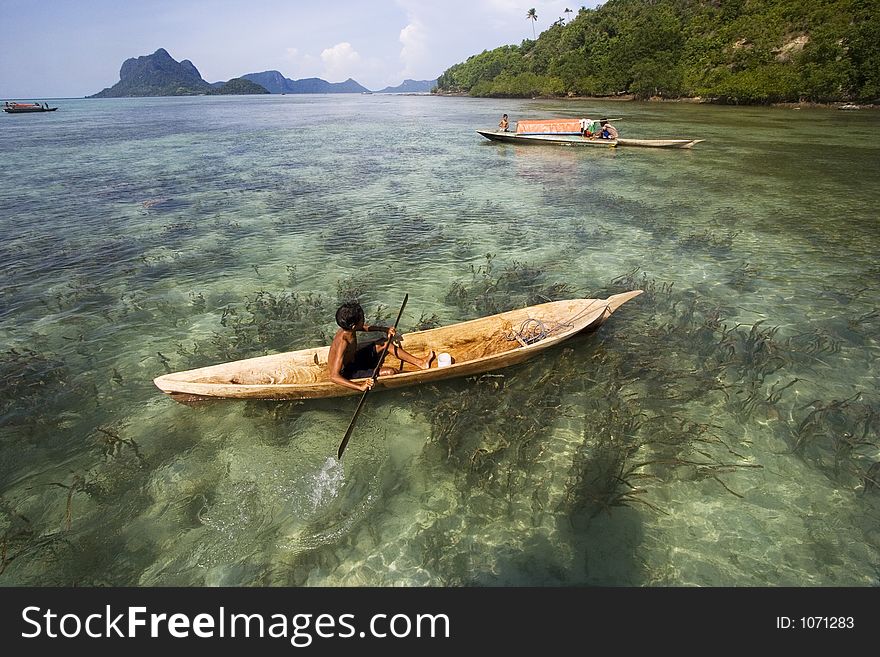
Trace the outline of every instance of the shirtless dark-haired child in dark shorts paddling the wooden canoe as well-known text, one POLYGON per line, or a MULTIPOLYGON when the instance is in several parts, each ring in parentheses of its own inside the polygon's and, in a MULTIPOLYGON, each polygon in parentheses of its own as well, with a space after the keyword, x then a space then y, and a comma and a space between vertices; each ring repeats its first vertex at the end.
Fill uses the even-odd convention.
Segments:
MULTIPOLYGON (((333 383, 365 392, 373 387, 373 371, 379 364, 382 351, 385 349, 385 341, 391 340, 389 352, 392 352, 400 360, 415 365, 419 369, 426 370, 431 367, 435 353, 432 349, 424 358, 417 358, 403 350, 399 346, 399 340, 395 340, 394 327, 373 326, 364 323, 364 309, 356 301, 350 301, 339 306, 336 311, 336 323, 339 330, 333 336, 330 345, 330 353, 327 356, 327 367, 330 369, 330 380, 333 383), (386 340, 370 342, 361 348, 357 344, 358 331, 382 331, 387 335, 386 340), (364 383, 355 383, 351 379, 366 379, 364 383)), ((392 367, 383 367, 379 370, 379 376, 396 374, 397 370, 392 367)))

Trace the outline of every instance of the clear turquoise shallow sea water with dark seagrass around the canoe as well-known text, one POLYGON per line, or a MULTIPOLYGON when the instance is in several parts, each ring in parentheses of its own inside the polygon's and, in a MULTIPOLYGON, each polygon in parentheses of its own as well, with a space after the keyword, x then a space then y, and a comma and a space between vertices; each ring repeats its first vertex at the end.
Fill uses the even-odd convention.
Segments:
MULTIPOLYGON (((53 103, 55 104, 55 103, 53 103)), ((430 96, 0 116, 3 585, 876 586, 880 116, 430 96), (690 151, 494 144, 620 117, 690 151), (645 293, 492 376, 179 404, 152 379, 645 293)))

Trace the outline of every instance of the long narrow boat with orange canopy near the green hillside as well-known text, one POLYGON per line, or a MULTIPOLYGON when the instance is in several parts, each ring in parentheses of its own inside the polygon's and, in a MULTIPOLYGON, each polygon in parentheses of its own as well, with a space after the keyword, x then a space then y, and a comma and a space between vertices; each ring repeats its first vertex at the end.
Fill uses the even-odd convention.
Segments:
MULTIPOLYGON (((477 130, 492 141, 512 144, 555 144, 559 146, 641 146, 648 148, 693 148, 702 139, 625 139, 602 138, 602 124, 610 119, 540 119, 518 121, 516 132, 477 130)), ((612 134, 614 134, 612 132, 612 134)))

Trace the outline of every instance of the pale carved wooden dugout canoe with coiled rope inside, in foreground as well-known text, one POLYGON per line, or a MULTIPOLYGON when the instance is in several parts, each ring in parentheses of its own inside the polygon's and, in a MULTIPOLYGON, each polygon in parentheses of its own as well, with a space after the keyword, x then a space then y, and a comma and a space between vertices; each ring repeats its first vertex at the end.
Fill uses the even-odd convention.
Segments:
MULTIPOLYGON (((396 374, 380 376, 373 388, 400 388, 471 376, 521 363, 586 329, 602 324, 622 304, 642 293, 633 290, 607 299, 569 299, 511 310, 403 336, 403 347, 421 355, 447 353, 452 364, 420 370, 392 353, 385 366, 396 374)), ((259 356, 165 374, 156 386, 180 401, 202 398, 313 399, 361 394, 330 381, 329 346, 259 356)), ((356 381, 359 379, 355 379, 356 381)), ((362 379, 360 379, 362 380, 362 379)))

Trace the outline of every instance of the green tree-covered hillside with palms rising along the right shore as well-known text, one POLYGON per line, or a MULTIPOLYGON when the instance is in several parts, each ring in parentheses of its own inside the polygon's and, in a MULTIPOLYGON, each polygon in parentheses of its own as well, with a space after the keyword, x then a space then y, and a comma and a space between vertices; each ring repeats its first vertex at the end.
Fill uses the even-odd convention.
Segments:
POLYGON ((536 40, 470 57, 437 86, 472 96, 876 102, 880 0, 610 0, 536 40))

